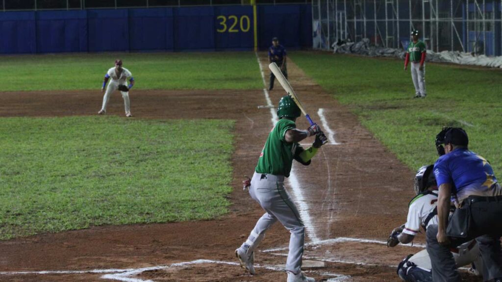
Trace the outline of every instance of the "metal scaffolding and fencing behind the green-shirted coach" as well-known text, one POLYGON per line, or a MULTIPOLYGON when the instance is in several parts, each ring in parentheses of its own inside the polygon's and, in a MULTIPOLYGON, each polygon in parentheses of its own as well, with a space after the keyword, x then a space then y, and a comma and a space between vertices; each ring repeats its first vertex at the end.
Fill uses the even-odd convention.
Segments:
POLYGON ((405 48, 417 29, 429 50, 502 55, 502 0, 313 0, 314 48, 368 38, 405 48))

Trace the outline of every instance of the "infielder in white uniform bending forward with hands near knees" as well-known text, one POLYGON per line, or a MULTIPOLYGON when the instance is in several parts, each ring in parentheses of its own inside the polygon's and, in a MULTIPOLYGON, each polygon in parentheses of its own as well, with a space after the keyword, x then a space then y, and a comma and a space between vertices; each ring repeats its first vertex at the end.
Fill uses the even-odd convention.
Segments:
POLYGON ((131 104, 129 101, 129 89, 134 86, 134 78, 131 72, 122 68, 122 60, 115 60, 115 67, 110 68, 106 75, 104 76, 103 87, 101 87, 101 92, 104 92, 104 87, 106 86, 106 82, 111 77, 110 83, 108 83, 108 87, 106 88, 106 92, 103 96, 103 106, 101 110, 99 110, 98 114, 106 113, 106 105, 108 104, 108 100, 110 99, 110 94, 115 90, 120 90, 122 93, 122 98, 124 99, 124 106, 126 107, 126 116, 131 117, 131 104), (129 78, 129 85, 127 85, 127 79, 129 78))

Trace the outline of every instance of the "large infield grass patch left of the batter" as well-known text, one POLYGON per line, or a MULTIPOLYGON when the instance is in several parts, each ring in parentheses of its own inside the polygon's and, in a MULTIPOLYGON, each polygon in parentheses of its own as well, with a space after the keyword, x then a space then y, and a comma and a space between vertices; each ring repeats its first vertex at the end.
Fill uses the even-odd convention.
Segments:
POLYGON ((0 119, 0 239, 227 212, 233 121, 0 119))

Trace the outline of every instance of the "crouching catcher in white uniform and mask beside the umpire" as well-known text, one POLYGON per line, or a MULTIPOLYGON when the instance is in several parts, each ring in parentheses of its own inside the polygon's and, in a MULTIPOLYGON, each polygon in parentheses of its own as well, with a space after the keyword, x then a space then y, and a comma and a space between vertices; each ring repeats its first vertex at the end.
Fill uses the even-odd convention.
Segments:
MULTIPOLYGON (((414 187, 417 196, 410 201, 407 222, 392 231, 387 246, 410 243, 420 232, 420 226, 426 230, 430 224, 437 224, 438 188, 436 177, 432 173, 433 168, 433 165, 423 166, 417 171, 414 187)), ((452 248, 451 252, 457 267, 472 264, 472 272, 480 275, 482 260, 475 240, 452 248)), ((428 282, 432 281, 431 269, 431 259, 424 249, 415 255, 408 255, 399 263, 397 272, 403 281, 428 282)))

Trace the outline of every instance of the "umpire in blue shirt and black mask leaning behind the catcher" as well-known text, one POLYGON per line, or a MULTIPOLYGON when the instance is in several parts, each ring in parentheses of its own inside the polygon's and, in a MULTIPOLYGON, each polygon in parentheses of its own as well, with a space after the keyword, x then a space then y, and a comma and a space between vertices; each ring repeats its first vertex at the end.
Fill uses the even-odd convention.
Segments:
POLYGON ((461 281, 449 250, 476 239, 484 281, 502 282, 502 192, 490 164, 467 149, 462 128, 443 127, 436 136, 439 159, 434 174, 439 187, 438 224, 427 228, 427 251, 433 281, 461 281), (456 206, 449 218, 451 203, 456 206), (449 222, 448 222, 449 221, 449 222))

